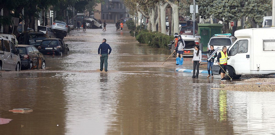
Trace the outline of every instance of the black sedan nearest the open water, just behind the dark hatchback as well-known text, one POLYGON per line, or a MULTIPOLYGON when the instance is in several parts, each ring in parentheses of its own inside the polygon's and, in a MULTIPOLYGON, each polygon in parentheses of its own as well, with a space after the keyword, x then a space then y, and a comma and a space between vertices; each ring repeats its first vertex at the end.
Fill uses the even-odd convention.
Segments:
POLYGON ((59 38, 48 38, 44 39, 41 44, 38 46, 38 50, 42 54, 46 55, 60 55, 63 54, 69 55, 68 44, 65 44, 63 40, 59 38))

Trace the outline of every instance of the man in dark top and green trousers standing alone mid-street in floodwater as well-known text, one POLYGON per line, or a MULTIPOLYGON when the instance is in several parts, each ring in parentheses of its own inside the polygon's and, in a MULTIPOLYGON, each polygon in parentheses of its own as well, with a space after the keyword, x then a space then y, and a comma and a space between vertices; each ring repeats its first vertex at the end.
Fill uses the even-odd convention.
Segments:
POLYGON ((107 72, 108 68, 108 57, 112 51, 112 48, 110 47, 109 44, 106 43, 106 39, 102 39, 102 44, 99 45, 98 47, 98 55, 100 55, 100 71, 103 70, 103 63, 104 63, 104 70, 107 72), (109 49, 109 53, 108 53, 109 49))

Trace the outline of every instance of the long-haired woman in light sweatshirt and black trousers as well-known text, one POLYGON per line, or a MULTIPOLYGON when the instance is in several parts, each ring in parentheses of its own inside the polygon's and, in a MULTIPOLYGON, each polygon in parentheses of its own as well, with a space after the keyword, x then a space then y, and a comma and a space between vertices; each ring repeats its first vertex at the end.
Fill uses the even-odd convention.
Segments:
POLYGON ((199 77, 199 66, 200 62, 202 61, 202 51, 200 51, 200 48, 198 45, 195 46, 194 50, 194 56, 193 56, 193 76, 192 78, 198 78, 199 77), (197 73, 196 73, 196 68, 197 68, 197 73), (196 75, 195 75, 196 73, 196 75))

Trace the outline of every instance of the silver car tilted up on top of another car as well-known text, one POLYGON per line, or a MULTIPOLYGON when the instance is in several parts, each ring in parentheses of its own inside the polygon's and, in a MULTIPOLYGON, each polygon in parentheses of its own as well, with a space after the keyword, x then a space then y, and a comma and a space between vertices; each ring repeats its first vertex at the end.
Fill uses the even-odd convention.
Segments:
POLYGON ((54 21, 51 25, 57 38, 63 39, 67 36, 68 25, 63 21, 54 21))

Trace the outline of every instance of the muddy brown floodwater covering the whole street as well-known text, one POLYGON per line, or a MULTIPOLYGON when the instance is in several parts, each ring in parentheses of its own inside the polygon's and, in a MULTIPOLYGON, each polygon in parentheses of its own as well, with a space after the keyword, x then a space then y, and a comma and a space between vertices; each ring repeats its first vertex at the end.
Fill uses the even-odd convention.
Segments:
POLYGON ((174 72, 161 66, 170 51, 106 29, 71 31, 70 55, 45 56, 44 70, 0 71, 0 118, 12 119, 0 134, 275 134, 274 92, 211 89, 231 82, 174 72), (99 70, 102 38, 108 72, 99 70))

